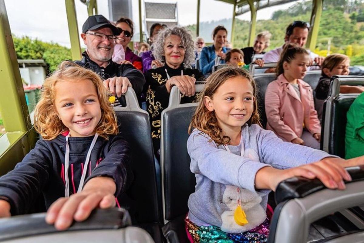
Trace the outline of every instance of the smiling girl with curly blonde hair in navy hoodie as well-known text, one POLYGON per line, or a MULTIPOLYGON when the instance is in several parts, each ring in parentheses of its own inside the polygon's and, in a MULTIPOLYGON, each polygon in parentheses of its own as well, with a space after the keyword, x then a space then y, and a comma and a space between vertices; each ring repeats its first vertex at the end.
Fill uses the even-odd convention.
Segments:
POLYGON ((34 124, 43 139, 0 178, 0 217, 27 213, 43 193, 47 223, 64 230, 118 203, 130 149, 107 97, 95 72, 71 62, 44 81, 34 124))

